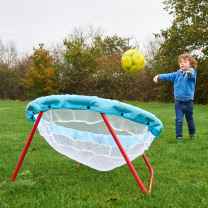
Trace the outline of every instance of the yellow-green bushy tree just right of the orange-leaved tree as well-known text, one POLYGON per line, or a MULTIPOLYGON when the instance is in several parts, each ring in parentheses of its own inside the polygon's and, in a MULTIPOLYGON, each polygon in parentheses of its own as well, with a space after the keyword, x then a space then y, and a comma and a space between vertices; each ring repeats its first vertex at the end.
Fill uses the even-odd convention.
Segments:
POLYGON ((65 40, 64 59, 67 71, 63 74, 66 84, 65 93, 84 94, 91 89, 93 75, 97 70, 97 62, 89 45, 83 38, 65 40))

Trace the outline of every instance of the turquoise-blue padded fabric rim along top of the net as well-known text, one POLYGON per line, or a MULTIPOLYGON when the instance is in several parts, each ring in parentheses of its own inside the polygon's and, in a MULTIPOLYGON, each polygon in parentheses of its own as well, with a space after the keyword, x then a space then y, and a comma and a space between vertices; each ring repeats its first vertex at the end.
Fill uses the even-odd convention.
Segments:
POLYGON ((148 130, 158 137, 163 129, 162 122, 150 112, 141 108, 119 102, 84 95, 50 95, 31 101, 26 107, 29 121, 35 122, 34 115, 51 109, 91 110, 98 113, 117 115, 148 126, 148 130))

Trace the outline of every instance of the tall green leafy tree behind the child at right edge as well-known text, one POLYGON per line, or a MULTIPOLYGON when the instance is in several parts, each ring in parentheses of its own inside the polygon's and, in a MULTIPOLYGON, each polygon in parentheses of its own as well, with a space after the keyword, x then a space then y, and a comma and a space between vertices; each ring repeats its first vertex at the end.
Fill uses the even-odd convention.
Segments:
MULTIPOLYGON (((154 59, 155 74, 168 73, 179 69, 177 59, 182 53, 191 53, 198 60, 195 100, 198 103, 208 102, 208 84, 204 76, 208 76, 208 2, 207 0, 165 0, 165 10, 174 16, 172 26, 162 30, 165 42, 154 59), (199 89, 200 88, 200 89, 199 89), (203 95, 203 98, 201 97, 203 95), (205 98, 205 99, 204 99, 205 98)), ((173 101, 173 85, 164 82, 157 87, 159 97, 163 101, 173 101)))

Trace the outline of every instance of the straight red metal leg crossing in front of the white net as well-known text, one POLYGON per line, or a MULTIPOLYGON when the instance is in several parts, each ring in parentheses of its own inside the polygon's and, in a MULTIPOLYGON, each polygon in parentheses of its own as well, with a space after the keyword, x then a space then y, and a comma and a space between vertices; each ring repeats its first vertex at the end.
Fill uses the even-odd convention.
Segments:
POLYGON ((133 167, 133 165, 132 165, 130 159, 128 158, 128 155, 126 154, 126 152, 125 152, 123 146, 121 145, 121 143, 120 143, 120 141, 119 141, 117 135, 115 134, 115 132, 114 132, 114 130, 113 130, 113 128, 112 128, 110 122, 108 121, 107 116, 106 116, 105 114, 103 114, 103 113, 101 113, 101 116, 102 116, 104 122, 106 123, 106 125, 107 125, 107 127, 108 127, 108 129, 109 129, 109 131, 110 131, 110 133, 111 133, 111 135, 113 136, 113 138, 114 138, 116 144, 118 145, 118 148, 120 149, 120 151, 121 151, 121 153, 122 153, 124 159, 126 160, 126 163, 128 164, 128 166, 129 166, 129 168, 130 168, 130 170, 131 170, 131 172, 132 172, 134 178, 136 179, 136 181, 137 181, 137 183, 138 183, 140 189, 142 190, 142 192, 143 192, 144 194, 147 194, 147 191, 146 191, 146 189, 145 189, 143 183, 141 182, 141 180, 140 180, 140 178, 139 178, 139 176, 138 176, 136 170, 134 169, 134 167, 133 167))

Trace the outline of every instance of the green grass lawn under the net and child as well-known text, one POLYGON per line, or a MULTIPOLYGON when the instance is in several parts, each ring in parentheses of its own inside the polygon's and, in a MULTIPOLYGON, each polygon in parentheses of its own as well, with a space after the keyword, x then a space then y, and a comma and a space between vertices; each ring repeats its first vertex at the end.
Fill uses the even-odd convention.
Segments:
MULTIPOLYGON (((129 102, 130 103, 130 102, 129 102)), ((208 207, 208 106, 195 105, 196 141, 184 122, 184 143, 175 141, 173 104, 130 104, 156 115, 162 134, 145 152, 152 168, 152 193, 144 195, 127 165, 109 172, 59 154, 35 133, 15 182, 14 169, 33 124, 26 102, 0 101, 0 207, 208 207)), ((133 165, 148 189, 150 173, 142 157, 133 165)))

